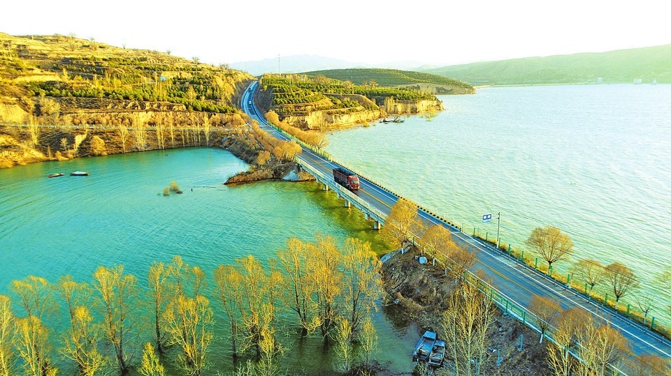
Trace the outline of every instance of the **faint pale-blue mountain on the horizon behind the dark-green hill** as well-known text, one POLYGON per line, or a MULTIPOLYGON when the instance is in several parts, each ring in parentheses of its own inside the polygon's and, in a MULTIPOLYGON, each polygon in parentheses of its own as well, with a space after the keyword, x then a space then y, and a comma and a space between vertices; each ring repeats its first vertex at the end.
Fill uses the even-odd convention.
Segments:
MULTIPOLYGON (((257 61, 239 61, 232 63, 231 68, 243 70, 252 75, 263 75, 264 73, 277 73, 277 58, 257 61)), ((321 57, 316 55, 292 55, 280 57, 281 73, 301 73, 313 70, 331 70, 347 68, 394 68, 412 69, 421 66, 420 61, 391 61, 389 63, 367 64, 354 63, 352 61, 321 57)))

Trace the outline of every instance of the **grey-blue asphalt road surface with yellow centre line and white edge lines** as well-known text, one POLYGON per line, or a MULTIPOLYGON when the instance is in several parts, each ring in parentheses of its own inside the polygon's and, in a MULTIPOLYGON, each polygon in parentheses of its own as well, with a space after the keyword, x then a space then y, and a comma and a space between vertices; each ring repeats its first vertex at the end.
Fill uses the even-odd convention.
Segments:
MULTIPOLYGON (((280 133, 266 122, 263 114, 259 112, 254 105, 253 93, 257 89, 258 82, 250 85, 242 98, 241 107, 243 111, 259 121, 261 128, 281 140, 289 140, 289 137, 280 133)), ((331 176, 335 167, 344 167, 338 165, 323 156, 320 156, 309 149, 303 148, 301 159, 305 163, 310 163, 312 167, 317 168, 325 176, 331 176)), ((347 167, 345 167, 347 168, 347 167)), ((370 206, 382 211, 385 215, 389 213, 391 206, 398 200, 390 190, 378 186, 373 181, 359 176, 360 188, 354 193, 366 200, 370 206)), ((430 187, 427 187, 430 189, 430 187)), ((422 220, 431 224, 445 226, 451 233, 457 246, 470 252, 475 252, 477 262, 471 271, 476 273, 482 270, 486 280, 503 293, 510 301, 514 301, 518 306, 528 307, 533 295, 543 296, 554 299, 561 303, 563 309, 581 307, 589 311, 597 320, 608 322, 611 326, 619 329, 630 343, 630 350, 635 355, 649 354, 662 356, 665 359, 671 359, 671 342, 657 333, 650 331, 644 326, 630 321, 626 317, 614 313, 611 309, 605 308, 600 304, 587 299, 586 296, 575 292, 575 290, 565 287, 560 283, 544 276, 542 273, 517 262, 514 258, 501 253, 489 244, 480 239, 474 239, 461 232, 453 225, 449 225, 445 220, 435 216, 423 209, 418 211, 422 220)))

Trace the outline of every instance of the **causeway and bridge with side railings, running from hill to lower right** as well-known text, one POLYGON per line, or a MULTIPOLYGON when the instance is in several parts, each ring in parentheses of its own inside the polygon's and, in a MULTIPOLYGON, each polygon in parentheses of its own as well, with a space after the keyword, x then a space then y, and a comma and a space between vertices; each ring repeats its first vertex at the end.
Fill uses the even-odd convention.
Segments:
MULTIPOLYGON (((266 132, 280 140, 294 140, 290 135, 268 123, 264 114, 254 105, 253 93, 257 90, 257 86, 258 82, 254 82, 250 84, 249 89, 245 90, 240 107, 252 116, 252 119, 256 119, 259 126, 266 132)), ((357 174, 360 183, 359 190, 356 192, 347 190, 333 181, 332 170, 335 167, 343 167, 350 171, 351 169, 335 162, 324 151, 305 144, 302 144, 302 146, 303 153, 296 158, 296 162, 303 170, 315 176, 324 190, 333 190, 338 197, 344 200, 345 206, 355 206, 363 211, 367 218, 375 221, 375 228, 379 229, 384 226, 384 220, 387 218, 391 206, 400 198, 399 195, 361 174, 357 174)), ((429 225, 444 226, 452 234, 452 239, 457 246, 475 253, 476 264, 470 270, 470 277, 476 278, 475 273, 478 271, 484 272, 487 282, 479 280, 478 283, 489 285, 487 291, 491 294, 493 301, 505 314, 519 319, 538 333, 540 333, 540 329, 535 324, 535 315, 527 308, 534 295, 558 301, 564 310, 574 307, 582 308, 591 313, 597 322, 605 322, 618 329, 630 344, 629 356, 647 354, 671 359, 671 341, 658 333, 615 313, 611 308, 587 298, 571 287, 558 283, 558 281, 507 255, 507 253, 498 250, 489 243, 482 241, 482 239, 465 234, 459 227, 449 223, 436 213, 432 213, 421 206, 419 206, 417 213, 419 218, 429 223, 429 225)), ((551 329, 549 330, 549 338, 551 340, 551 329)), ((616 368, 616 371, 621 375, 627 375, 626 366, 620 369, 616 368)))

